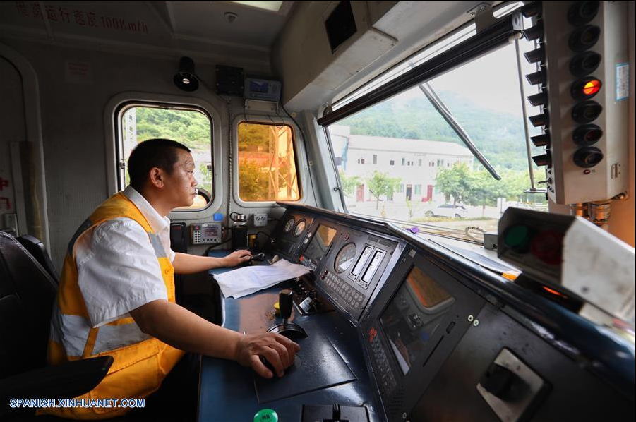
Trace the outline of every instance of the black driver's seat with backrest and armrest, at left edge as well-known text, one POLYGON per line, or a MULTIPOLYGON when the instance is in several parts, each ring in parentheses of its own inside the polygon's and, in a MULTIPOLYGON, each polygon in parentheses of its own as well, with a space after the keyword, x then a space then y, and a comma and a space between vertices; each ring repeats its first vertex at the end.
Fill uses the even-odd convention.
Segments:
POLYGON ((11 409, 11 398, 61 399, 89 392, 111 356, 47 366, 57 284, 10 234, 0 231, 0 419, 23 420, 35 409, 11 409))

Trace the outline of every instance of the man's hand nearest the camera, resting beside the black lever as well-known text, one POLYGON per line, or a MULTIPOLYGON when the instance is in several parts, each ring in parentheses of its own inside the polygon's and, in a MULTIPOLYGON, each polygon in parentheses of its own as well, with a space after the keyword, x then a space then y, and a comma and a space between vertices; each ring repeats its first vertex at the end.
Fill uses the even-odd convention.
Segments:
POLYGON ((284 370, 294 364, 296 352, 299 350, 298 344, 274 332, 246 334, 239 339, 235 360, 243 366, 250 366, 264 378, 272 378, 272 371, 260 361, 260 356, 263 356, 270 362, 277 375, 282 377, 284 370))

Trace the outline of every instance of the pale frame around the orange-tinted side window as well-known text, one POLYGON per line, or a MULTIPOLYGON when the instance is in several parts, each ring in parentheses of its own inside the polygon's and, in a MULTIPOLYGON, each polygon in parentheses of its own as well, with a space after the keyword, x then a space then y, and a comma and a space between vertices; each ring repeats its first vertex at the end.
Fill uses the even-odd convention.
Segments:
POLYGON ((289 126, 292 129, 292 145, 294 147, 294 162, 296 164, 296 177, 298 178, 298 189, 300 198, 295 201, 281 201, 281 202, 290 202, 290 203, 299 203, 304 204, 307 201, 307 195, 305 194, 307 191, 306 185, 306 174, 308 174, 308 169, 304 165, 306 162, 305 150, 303 148, 301 140, 301 136, 299 135, 301 131, 299 130, 296 123, 284 116, 276 115, 261 115, 261 114, 239 114, 234 117, 234 121, 232 122, 232 198, 234 199, 234 203, 244 208, 263 208, 263 207, 278 207, 278 201, 275 200, 263 200, 263 201, 246 201, 242 200, 239 197, 239 177, 234 176, 235 174, 239 174, 239 124, 240 123, 255 123, 255 124, 265 124, 265 125, 280 125, 284 124, 285 126, 289 126), (301 159, 301 157, 303 157, 301 159))

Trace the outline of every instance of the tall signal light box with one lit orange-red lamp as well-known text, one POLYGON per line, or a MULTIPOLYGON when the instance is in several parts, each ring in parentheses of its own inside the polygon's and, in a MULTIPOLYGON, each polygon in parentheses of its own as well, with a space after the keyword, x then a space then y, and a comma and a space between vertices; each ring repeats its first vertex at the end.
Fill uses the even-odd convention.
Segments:
POLYGON ((543 112, 529 119, 544 133, 531 139, 546 147, 532 158, 546 166, 548 197, 611 199, 628 190, 627 2, 543 1, 532 11, 524 36, 539 44, 525 56, 539 70, 527 79, 541 92, 528 100, 543 112))

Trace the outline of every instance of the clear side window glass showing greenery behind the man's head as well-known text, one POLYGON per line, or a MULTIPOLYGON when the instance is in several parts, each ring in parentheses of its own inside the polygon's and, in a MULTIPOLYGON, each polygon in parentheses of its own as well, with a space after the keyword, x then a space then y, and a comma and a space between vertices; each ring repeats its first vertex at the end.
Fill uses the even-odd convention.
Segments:
POLYGON ((121 113, 119 141, 119 186, 130 182, 128 157, 136 145, 152 138, 167 138, 186 145, 194 158, 194 176, 198 195, 189 207, 176 210, 200 210, 212 201, 212 122, 198 109, 166 109, 150 105, 127 107, 121 113), (123 165, 122 165, 123 164, 123 165))

